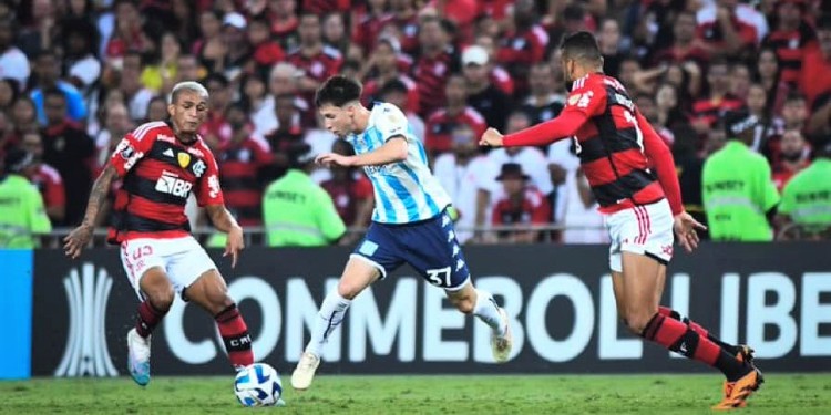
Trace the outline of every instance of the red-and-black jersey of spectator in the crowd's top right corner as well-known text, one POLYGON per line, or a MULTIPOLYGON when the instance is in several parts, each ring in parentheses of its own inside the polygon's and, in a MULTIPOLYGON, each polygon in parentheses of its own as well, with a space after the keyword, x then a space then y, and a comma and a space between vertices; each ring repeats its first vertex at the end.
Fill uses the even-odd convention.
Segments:
POLYGON ((802 55, 817 43, 817 33, 808 23, 802 22, 797 30, 776 30, 762 41, 762 48, 770 48, 779 58, 780 80, 797 84, 802 69, 802 55))

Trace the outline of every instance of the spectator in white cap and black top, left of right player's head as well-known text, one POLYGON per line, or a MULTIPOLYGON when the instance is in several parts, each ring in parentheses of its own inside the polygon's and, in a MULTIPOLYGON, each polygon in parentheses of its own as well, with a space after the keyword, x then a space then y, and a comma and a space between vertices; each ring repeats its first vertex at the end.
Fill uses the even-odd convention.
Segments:
POLYGON ((468 104, 484 116, 489 126, 503 129, 511 98, 491 83, 488 52, 479 45, 468 46, 462 53, 462 65, 468 82, 468 104))

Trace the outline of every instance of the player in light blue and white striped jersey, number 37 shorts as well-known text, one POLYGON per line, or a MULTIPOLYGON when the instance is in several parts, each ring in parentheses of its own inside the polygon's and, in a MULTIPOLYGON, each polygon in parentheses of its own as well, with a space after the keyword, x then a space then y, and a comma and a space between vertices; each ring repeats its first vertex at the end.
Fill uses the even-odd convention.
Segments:
POLYGON ((338 288, 324 300, 311 340, 291 374, 291 386, 306 390, 320 364, 320 350, 343 320, 352 299, 372 282, 409 263, 428 282, 443 289, 465 314, 474 314, 491 329, 496 362, 511 353, 507 314, 489 292, 471 282, 447 212, 450 197, 430 173, 427 154, 397 106, 360 103, 361 84, 332 76, 317 91, 315 104, 326 128, 355 147, 353 156, 321 154, 325 165, 360 166, 375 188, 376 208, 367 236, 346 264, 338 288))

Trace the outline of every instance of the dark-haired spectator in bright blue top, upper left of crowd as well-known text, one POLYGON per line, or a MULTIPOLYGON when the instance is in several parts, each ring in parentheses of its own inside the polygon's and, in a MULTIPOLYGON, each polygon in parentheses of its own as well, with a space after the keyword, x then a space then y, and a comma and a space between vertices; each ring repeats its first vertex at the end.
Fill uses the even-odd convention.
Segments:
POLYGON ((31 97, 38 111, 38 121, 41 125, 47 124, 47 115, 43 111, 43 91, 57 89, 63 93, 66 98, 68 114, 70 120, 82 123, 86 118, 86 105, 84 104, 81 93, 69 82, 62 81, 61 62, 52 50, 44 50, 38 55, 34 65, 37 83, 32 87, 31 97))

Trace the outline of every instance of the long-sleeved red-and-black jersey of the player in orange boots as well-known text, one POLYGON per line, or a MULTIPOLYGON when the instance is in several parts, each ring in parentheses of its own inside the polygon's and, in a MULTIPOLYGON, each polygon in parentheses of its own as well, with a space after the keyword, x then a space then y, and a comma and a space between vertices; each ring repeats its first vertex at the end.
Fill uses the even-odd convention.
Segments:
POLYGON ((503 143, 540 145, 568 136, 601 211, 648 205, 665 196, 673 214, 683 210, 671 153, 614 77, 595 73, 578 79, 560 116, 510 134, 503 143))

